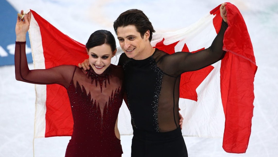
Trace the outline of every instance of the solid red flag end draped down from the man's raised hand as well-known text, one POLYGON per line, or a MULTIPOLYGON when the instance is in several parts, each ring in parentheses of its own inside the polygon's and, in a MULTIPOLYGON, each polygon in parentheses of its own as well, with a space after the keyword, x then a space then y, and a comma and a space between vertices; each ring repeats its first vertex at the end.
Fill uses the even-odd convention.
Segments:
POLYGON ((257 71, 253 46, 239 10, 228 4, 229 28, 224 36, 220 68, 220 88, 225 113, 223 149, 229 153, 245 153, 251 134, 254 77, 257 71))

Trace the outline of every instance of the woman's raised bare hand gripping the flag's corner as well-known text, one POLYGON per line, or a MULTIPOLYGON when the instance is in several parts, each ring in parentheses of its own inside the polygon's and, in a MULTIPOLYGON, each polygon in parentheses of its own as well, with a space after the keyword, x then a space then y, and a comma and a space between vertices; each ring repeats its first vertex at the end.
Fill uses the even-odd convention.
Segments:
MULTIPOLYGON (((23 10, 21 10, 21 15, 23 15, 23 10)), ((31 20, 31 12, 24 16, 24 20, 17 18, 16 22, 16 41, 26 41, 26 33, 29 30, 31 20)))

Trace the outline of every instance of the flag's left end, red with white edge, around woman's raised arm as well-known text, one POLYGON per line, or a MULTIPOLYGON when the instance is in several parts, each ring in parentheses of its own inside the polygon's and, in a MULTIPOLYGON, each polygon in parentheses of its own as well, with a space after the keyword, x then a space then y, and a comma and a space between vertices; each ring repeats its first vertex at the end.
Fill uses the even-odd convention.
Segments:
MULTIPOLYGON (((76 65, 88 58, 83 44, 69 38, 31 10, 29 37, 34 69, 76 65)), ((66 89, 59 84, 35 85, 35 138, 71 136, 73 118, 66 89)))

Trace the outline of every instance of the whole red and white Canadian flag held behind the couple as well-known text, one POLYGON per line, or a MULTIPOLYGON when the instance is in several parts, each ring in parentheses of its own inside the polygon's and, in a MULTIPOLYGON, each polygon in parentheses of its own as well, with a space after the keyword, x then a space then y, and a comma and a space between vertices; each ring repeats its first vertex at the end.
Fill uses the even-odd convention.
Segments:
MULTIPOLYGON (((194 53, 208 48, 221 27, 219 7, 187 28, 154 34, 152 46, 169 54, 194 53)), ((229 26, 223 41, 223 50, 227 51, 224 59, 182 74, 179 104, 184 118, 182 133, 184 136, 223 137, 225 151, 245 153, 251 133, 257 66, 242 15, 233 4, 227 3, 225 7, 229 26)), ((35 69, 77 65, 88 58, 85 45, 31 12, 29 37, 35 69)), ((71 136, 73 118, 66 89, 58 84, 36 85, 35 89, 34 138, 71 136)), ((128 112, 124 108, 119 113, 121 134, 132 134, 128 112)))

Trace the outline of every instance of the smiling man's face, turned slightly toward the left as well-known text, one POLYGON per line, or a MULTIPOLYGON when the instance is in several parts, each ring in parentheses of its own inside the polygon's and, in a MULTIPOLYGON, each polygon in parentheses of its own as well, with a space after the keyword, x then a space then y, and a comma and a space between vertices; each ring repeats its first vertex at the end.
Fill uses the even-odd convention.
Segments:
POLYGON ((145 49, 150 44, 147 33, 142 38, 134 25, 128 25, 118 27, 117 34, 120 46, 128 58, 145 59, 143 53, 146 53, 145 49))

